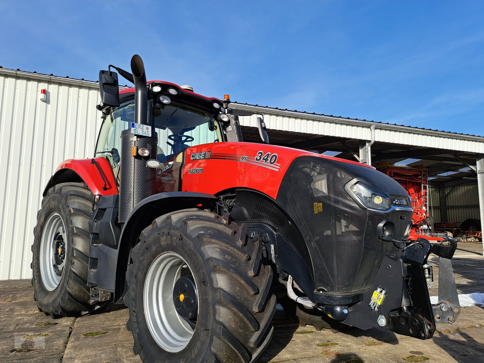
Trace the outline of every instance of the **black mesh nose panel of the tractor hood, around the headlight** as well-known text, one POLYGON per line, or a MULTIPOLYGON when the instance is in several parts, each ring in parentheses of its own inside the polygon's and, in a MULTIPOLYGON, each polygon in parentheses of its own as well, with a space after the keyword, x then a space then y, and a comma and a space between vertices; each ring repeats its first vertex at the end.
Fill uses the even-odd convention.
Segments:
POLYGON ((323 295, 352 295, 368 289, 383 257, 398 251, 393 242, 378 239, 378 224, 385 219, 393 222, 394 239, 401 241, 411 223, 409 211, 374 212, 360 207, 345 190, 354 178, 391 197, 407 197, 398 182, 373 168, 312 156, 294 160, 277 194, 277 202, 307 244, 316 291, 323 295))

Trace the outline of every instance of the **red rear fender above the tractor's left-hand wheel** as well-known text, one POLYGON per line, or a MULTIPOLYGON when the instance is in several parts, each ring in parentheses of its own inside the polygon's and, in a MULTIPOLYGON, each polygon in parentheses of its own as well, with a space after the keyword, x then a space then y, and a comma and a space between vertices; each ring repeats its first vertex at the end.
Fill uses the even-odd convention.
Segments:
POLYGON ((43 196, 45 197, 47 191, 54 185, 69 181, 85 182, 94 195, 111 196, 118 194, 113 169, 105 158, 64 160, 47 182, 43 196), (95 164, 93 161, 95 161, 95 164))

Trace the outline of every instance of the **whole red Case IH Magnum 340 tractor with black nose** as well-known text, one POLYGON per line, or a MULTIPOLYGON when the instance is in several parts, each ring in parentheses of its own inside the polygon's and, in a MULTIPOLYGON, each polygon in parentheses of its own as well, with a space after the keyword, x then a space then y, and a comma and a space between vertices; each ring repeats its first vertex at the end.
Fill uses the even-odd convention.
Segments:
POLYGON ((255 362, 278 300, 319 329, 429 339, 436 321, 457 318, 456 243, 408 240, 413 210, 398 182, 269 145, 262 119, 265 142, 242 142, 228 95, 147 82, 137 55, 132 73, 114 68, 135 87, 119 91, 118 73, 100 72, 94 155, 64 161, 45 187, 32 246, 41 311, 125 304, 143 362, 255 362))

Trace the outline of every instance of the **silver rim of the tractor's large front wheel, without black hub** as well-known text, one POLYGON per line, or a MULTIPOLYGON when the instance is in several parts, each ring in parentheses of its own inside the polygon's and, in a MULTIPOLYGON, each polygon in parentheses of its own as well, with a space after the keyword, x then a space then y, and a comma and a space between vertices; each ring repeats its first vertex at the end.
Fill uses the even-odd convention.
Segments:
POLYGON ((173 302, 173 288, 187 267, 191 272, 180 255, 166 252, 155 258, 145 280, 143 303, 148 328, 156 343, 169 352, 185 348, 195 331, 178 315, 173 302))

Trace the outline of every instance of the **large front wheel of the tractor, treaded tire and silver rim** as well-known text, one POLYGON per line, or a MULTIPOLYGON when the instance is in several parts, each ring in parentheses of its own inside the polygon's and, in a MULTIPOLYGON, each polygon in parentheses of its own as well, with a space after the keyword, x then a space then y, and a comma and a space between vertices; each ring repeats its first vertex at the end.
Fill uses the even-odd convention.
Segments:
POLYGON ((142 231, 126 272, 134 353, 150 363, 256 362, 272 338, 276 307, 272 268, 261 257, 260 243, 227 214, 158 217, 142 231))

